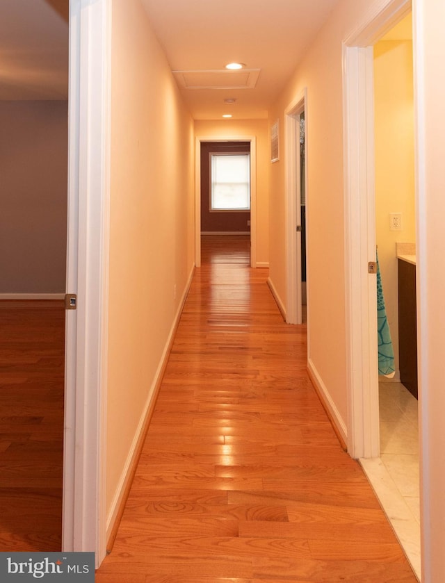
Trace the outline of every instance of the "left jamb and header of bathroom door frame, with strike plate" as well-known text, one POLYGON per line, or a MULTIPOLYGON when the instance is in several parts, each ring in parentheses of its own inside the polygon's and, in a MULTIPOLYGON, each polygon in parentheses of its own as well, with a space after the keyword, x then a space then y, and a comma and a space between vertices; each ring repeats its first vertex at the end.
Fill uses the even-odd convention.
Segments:
POLYGON ((343 42, 348 452, 380 454, 373 127, 373 44, 411 8, 380 0, 343 42))

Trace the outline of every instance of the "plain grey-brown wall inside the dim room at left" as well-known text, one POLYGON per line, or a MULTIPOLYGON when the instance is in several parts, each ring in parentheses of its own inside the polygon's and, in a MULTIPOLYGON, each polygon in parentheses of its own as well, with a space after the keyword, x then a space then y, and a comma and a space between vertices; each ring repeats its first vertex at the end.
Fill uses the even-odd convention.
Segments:
POLYGON ((65 293, 68 106, 0 101, 0 293, 65 293))

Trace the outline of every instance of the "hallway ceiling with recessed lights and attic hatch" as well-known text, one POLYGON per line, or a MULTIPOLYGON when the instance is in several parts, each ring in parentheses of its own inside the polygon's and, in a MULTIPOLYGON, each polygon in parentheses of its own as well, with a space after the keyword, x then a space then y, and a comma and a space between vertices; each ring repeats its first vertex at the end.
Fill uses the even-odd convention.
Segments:
POLYGON ((209 120, 267 117, 338 0, 141 1, 191 114, 209 120), (245 71, 225 72, 232 61, 245 71), (225 105, 227 98, 236 104, 225 105))

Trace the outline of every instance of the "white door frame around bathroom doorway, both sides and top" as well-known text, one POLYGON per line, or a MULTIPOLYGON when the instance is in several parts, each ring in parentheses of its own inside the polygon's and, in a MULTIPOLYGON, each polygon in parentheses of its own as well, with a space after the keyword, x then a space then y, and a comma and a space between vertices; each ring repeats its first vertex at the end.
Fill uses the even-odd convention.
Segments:
MULTIPOLYGON (((423 133, 423 3, 413 1, 414 56, 414 151, 416 173, 417 254, 428 247, 423 217, 426 205, 424 181, 425 142, 423 133)), ((378 457, 378 356, 375 325, 375 281, 366 274, 366 262, 375 261, 375 194, 373 161, 373 49, 375 42, 410 12, 411 0, 375 2, 362 26, 343 44, 343 120, 345 175, 345 265, 346 336, 348 373, 348 450, 353 457, 378 457), (377 378, 376 378, 377 377, 377 378)), ((425 270, 426 261, 420 261, 425 270)), ((428 339, 423 315, 425 278, 417 268, 417 318, 419 370, 427 370, 428 339), (422 333, 423 330, 423 333, 422 333)), ((430 500, 432 497, 428 450, 428 383, 419 375, 419 461, 421 482, 421 577, 432 581, 432 555, 439 546, 432 541, 430 500), (425 404, 426 403, 426 404, 425 404), (427 422, 426 422, 427 420, 427 422)), ((437 477, 437 474, 435 475, 437 477)), ((437 486, 436 486, 437 491, 437 486)), ((439 556, 437 555, 437 556, 439 556)), ((434 558, 434 557, 433 557, 434 558)), ((440 569, 439 569, 440 570, 440 569)), ((440 577, 440 574, 439 574, 440 577)))

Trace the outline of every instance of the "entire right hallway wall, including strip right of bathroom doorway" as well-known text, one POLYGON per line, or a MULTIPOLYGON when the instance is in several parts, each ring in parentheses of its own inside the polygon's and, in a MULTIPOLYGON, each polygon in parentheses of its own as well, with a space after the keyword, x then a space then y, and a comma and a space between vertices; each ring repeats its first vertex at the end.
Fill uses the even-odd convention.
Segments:
MULTIPOLYGON (((343 92, 341 43, 390 1, 340 0, 270 110, 270 123, 307 87, 309 364, 345 425, 346 330, 343 261, 343 92)), ((416 247, 423 583, 445 580, 445 4, 413 1, 416 119, 416 247)), ((280 146, 283 147, 281 141, 280 146)), ((283 151, 283 150, 282 150, 283 151)), ((270 278, 286 298, 284 165, 271 169, 270 278)))

